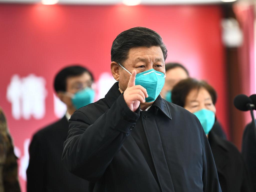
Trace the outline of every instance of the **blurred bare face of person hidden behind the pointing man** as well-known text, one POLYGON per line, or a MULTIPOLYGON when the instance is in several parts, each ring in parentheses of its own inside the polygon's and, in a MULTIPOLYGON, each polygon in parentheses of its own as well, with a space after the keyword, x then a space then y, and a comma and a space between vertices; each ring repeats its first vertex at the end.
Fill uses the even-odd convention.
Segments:
POLYGON ((188 75, 181 67, 175 67, 166 71, 166 78, 163 90, 170 91, 181 80, 187 79, 188 75))

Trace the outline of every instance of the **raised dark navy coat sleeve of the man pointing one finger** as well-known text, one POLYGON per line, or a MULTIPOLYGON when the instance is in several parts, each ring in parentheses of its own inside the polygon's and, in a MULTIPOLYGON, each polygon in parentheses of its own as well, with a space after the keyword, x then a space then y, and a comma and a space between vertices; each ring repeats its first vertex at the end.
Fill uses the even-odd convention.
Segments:
POLYGON ((96 182, 129 136, 140 116, 140 109, 132 112, 121 94, 95 122, 80 110, 69 120, 62 162, 74 175, 96 182))

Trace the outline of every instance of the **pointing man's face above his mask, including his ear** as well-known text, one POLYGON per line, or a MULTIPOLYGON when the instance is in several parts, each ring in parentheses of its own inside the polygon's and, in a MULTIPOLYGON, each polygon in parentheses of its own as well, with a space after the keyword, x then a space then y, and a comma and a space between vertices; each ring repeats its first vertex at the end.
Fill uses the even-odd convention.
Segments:
MULTIPOLYGON (((137 74, 150 69, 165 74, 165 62, 164 55, 160 47, 134 47, 129 50, 127 59, 120 63, 128 71, 132 73, 135 69, 137 74)), ((130 74, 119 66, 119 75, 116 80, 119 80, 119 87, 122 91, 125 91, 130 79, 130 74)))

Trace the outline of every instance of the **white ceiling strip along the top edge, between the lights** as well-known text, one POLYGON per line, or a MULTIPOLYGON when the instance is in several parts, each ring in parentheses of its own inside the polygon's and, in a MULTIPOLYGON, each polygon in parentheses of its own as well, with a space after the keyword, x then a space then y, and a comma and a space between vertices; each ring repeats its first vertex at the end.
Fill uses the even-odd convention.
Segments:
MULTIPOLYGON (((146 5, 172 5, 172 4, 216 4, 232 0, 141 0, 146 5)), ((0 3, 38 3, 40 0, 0 0, 0 3)), ((113 5, 120 4, 122 0, 59 0, 58 4, 84 4, 84 5, 113 5)))

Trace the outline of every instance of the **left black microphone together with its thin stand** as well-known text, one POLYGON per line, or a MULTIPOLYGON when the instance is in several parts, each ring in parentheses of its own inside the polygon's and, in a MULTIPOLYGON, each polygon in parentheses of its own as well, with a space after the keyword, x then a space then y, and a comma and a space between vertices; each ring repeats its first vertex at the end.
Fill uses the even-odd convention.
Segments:
POLYGON ((234 98, 234 105, 238 110, 240 111, 250 110, 251 118, 252 118, 252 126, 254 128, 254 134, 256 138, 256 122, 255 122, 254 113, 253 113, 253 110, 255 109, 255 104, 256 104, 256 94, 253 94, 250 97, 244 94, 240 94, 234 98))

